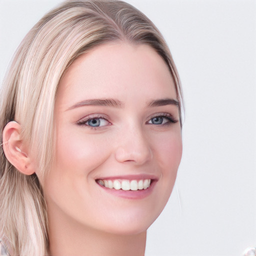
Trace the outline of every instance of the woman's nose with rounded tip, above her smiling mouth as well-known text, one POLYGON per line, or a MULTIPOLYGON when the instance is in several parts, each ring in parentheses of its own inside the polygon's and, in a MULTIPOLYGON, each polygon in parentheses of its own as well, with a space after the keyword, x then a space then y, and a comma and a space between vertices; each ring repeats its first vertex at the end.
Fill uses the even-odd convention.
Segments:
POLYGON ((152 159, 152 150, 146 134, 141 128, 130 128, 121 132, 115 150, 118 162, 132 162, 141 165, 152 159))

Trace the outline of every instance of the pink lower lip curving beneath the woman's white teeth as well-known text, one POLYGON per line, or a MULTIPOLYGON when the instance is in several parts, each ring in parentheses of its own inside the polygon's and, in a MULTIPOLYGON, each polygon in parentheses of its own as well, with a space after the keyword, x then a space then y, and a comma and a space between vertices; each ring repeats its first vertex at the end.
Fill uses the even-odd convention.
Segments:
POLYGON ((149 194, 151 194, 154 185, 155 185, 156 181, 152 180, 150 183, 150 186, 146 189, 141 189, 141 190, 122 190, 122 189, 114 189, 114 188, 107 188, 105 186, 102 186, 100 184, 98 184, 99 187, 101 187, 102 189, 104 189, 106 192, 115 195, 115 196, 119 196, 122 198, 126 198, 126 199, 142 199, 147 197, 149 194))

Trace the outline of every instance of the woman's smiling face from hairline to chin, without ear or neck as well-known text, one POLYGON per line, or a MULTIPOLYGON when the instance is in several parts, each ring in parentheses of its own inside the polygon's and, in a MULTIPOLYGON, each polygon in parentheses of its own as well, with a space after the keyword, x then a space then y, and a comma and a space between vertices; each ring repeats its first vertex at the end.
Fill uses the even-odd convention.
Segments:
POLYGON ((49 219, 145 231, 181 158, 176 100, 168 67, 150 46, 111 43, 74 61, 56 95, 56 151, 44 178, 49 219))

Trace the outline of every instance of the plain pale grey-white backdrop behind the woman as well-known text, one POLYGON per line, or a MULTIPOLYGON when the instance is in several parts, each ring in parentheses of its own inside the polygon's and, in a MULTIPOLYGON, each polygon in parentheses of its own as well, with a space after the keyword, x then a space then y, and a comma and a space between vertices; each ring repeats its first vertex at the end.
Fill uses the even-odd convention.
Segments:
MULTIPOLYGON (((60 0, 0 0, 0 81, 60 0)), ((185 99, 183 156, 146 256, 233 256, 256 246, 256 1, 127 0, 164 35, 185 99)))

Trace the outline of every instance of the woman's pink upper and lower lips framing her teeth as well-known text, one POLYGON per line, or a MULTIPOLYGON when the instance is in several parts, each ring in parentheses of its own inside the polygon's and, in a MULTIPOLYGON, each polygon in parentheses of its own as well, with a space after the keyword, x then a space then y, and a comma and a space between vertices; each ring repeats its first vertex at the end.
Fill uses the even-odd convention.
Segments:
MULTIPOLYGON (((153 188, 154 188, 154 185, 156 184, 157 182, 157 178, 152 178, 152 176, 148 176, 148 175, 145 175, 145 176, 141 176, 139 175, 136 176, 136 175, 125 175, 125 176, 114 176, 114 177, 106 177, 106 178, 99 178, 99 179, 128 179, 128 180, 131 180, 131 179, 146 179, 146 178, 150 178, 151 179, 151 183, 150 183, 150 186, 147 188, 147 189, 141 189, 141 190, 135 190, 135 191, 132 191, 132 190, 122 190, 122 189, 114 189, 114 188, 107 188, 107 187, 104 187, 100 184, 97 183, 97 185, 104 189, 104 191, 106 191, 107 193, 110 193, 114 196, 118 196, 118 197, 122 197, 122 198, 126 198, 126 199, 142 199, 142 198, 145 198, 146 196, 150 195, 153 191, 153 188)), ((97 179, 98 180, 98 179, 97 179)))

